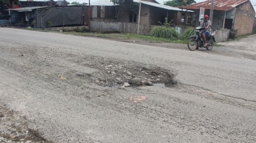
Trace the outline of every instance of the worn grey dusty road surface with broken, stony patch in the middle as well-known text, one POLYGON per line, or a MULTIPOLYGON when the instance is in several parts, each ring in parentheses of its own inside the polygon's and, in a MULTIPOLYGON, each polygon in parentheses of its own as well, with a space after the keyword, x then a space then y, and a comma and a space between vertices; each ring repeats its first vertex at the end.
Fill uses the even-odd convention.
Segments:
POLYGON ((54 143, 256 142, 256 61, 214 52, 0 28, 0 105, 54 143))

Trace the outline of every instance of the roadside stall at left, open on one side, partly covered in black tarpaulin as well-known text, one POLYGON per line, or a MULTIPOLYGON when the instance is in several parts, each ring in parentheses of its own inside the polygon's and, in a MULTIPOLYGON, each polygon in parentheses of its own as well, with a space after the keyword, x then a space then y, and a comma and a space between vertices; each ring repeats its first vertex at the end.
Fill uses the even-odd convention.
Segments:
POLYGON ((83 25, 83 6, 41 6, 8 9, 12 24, 44 27, 83 25))

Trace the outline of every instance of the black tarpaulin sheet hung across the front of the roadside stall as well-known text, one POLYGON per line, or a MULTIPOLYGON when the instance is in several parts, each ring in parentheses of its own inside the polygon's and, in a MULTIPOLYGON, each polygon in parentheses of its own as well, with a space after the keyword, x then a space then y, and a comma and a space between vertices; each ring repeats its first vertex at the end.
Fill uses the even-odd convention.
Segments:
POLYGON ((83 9, 81 7, 47 7, 34 10, 35 27, 62 25, 82 25, 83 9), (49 25, 50 24, 50 25, 49 25))

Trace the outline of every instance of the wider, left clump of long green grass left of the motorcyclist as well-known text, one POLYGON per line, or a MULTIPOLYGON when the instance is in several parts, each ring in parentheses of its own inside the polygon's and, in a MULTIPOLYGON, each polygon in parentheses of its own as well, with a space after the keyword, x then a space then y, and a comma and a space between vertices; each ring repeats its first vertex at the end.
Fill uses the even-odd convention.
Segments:
POLYGON ((157 26, 152 29, 151 35, 159 38, 178 38, 180 33, 171 27, 157 26))

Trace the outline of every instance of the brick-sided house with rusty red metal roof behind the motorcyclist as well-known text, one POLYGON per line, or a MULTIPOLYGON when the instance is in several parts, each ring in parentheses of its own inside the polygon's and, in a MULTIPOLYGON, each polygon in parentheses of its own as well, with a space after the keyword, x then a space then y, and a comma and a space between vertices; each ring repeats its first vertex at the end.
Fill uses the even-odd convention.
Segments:
MULTIPOLYGON (((210 14, 211 0, 180 8, 194 11, 192 21, 195 26, 200 25, 200 7, 205 8, 205 14, 210 14)), ((230 29, 238 35, 252 33, 255 11, 250 0, 215 0, 212 19, 212 29, 230 29)))

